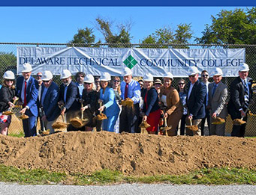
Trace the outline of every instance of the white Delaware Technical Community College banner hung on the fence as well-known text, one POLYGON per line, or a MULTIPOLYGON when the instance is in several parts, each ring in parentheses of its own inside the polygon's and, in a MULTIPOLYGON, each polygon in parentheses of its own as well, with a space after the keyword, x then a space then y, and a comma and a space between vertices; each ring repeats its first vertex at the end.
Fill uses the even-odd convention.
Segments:
POLYGON ((128 66, 134 76, 150 72, 161 77, 172 72, 174 77, 186 77, 189 66, 197 66, 209 73, 216 67, 224 76, 238 75, 239 66, 245 62, 245 49, 137 49, 137 48, 85 48, 85 47, 18 47, 17 72, 22 65, 32 64, 33 74, 50 70, 60 75, 62 69, 69 69, 74 75, 86 74, 122 75, 128 66))

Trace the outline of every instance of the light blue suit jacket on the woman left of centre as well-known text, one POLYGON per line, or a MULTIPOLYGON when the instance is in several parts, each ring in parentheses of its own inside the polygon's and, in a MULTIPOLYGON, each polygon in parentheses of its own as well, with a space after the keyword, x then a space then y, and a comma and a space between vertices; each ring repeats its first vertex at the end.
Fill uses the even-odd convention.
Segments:
POLYGON ((116 104, 116 96, 112 88, 107 87, 105 89, 104 95, 103 90, 101 89, 100 98, 103 100, 103 103, 106 107, 104 110, 104 114, 106 114, 107 117, 119 114, 120 108, 116 104))

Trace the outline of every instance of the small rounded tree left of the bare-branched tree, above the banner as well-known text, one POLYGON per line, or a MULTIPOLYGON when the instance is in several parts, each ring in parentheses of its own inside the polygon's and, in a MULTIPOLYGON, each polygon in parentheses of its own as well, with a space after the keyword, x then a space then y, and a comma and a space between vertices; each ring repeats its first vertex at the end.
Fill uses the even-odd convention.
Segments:
MULTIPOLYGON (((95 44, 95 35, 93 34, 92 28, 78 29, 77 34, 74 35, 74 39, 69 43, 80 43, 85 44, 86 46, 91 46, 95 44)), ((98 41, 99 44, 101 41, 98 41)))

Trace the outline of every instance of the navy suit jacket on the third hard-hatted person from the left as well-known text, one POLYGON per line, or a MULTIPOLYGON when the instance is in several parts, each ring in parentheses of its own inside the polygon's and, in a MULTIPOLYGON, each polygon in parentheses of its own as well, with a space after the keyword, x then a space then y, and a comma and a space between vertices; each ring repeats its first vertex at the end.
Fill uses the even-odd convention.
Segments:
MULTIPOLYGON (((44 92, 44 88, 45 87, 42 86, 42 95, 44 92)), ((55 82, 52 82, 47 90, 47 93, 45 94, 44 102, 41 102, 44 108, 45 116, 47 116, 48 121, 56 120, 56 118, 59 117, 60 109, 58 106, 58 101, 59 87, 55 82)))

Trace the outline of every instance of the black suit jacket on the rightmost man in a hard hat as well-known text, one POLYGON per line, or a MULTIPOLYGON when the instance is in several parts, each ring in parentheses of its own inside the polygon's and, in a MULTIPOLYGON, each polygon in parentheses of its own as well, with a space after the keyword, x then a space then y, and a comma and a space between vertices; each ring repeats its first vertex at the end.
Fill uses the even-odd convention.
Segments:
MULTIPOLYGON (((249 101, 252 98, 252 78, 246 78, 249 87, 249 101)), ((230 84, 230 101, 227 105, 228 114, 232 117, 240 118, 241 113, 239 109, 246 110, 245 106, 245 89, 242 84, 242 80, 240 77, 235 78, 232 83, 230 84)))

